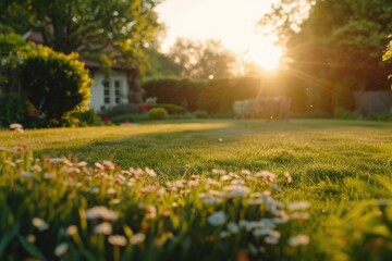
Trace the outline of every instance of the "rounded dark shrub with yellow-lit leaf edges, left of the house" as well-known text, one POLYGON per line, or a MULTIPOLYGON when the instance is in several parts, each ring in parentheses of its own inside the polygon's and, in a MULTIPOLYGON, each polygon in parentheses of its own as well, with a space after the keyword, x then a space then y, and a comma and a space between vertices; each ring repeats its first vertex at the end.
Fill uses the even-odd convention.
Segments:
POLYGON ((77 54, 54 52, 50 48, 26 46, 19 75, 26 99, 45 115, 47 122, 74 125, 73 113, 88 109, 91 79, 77 54))

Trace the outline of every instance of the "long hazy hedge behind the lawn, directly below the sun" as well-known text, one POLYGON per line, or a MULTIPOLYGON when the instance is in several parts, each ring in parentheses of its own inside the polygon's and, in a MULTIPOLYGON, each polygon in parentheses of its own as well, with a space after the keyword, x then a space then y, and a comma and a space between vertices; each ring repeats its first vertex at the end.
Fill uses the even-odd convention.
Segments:
MULTIPOLYGON (((284 74, 265 77, 218 78, 195 80, 186 78, 152 78, 143 84, 146 97, 159 102, 182 105, 188 111, 203 110, 212 115, 232 112, 237 100, 287 96, 292 112, 304 113, 308 98, 298 87, 287 87, 284 74)), ((226 114, 232 116, 231 114, 226 114)))

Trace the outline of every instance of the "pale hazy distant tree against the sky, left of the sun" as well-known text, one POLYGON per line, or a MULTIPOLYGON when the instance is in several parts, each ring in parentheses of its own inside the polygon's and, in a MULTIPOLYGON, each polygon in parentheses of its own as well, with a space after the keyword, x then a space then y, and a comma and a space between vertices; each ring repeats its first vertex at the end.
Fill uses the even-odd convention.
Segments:
POLYGON ((228 77, 233 75, 235 57, 219 40, 205 42, 179 38, 169 57, 182 67, 181 76, 196 78, 228 77))

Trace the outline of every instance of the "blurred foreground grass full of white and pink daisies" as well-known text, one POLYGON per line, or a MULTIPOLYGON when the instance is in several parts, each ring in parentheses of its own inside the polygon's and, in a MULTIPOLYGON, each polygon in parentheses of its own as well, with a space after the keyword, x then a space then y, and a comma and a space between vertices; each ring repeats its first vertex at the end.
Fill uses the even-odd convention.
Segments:
POLYGON ((2 149, 0 165, 4 259, 273 260, 309 241, 293 233, 310 204, 273 199, 282 190, 269 172, 168 179, 110 161, 35 159, 22 148, 2 149))

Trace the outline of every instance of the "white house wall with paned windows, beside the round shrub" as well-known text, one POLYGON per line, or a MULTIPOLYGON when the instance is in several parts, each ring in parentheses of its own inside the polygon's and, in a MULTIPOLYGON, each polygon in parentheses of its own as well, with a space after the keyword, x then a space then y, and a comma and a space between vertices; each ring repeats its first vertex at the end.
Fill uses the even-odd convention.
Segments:
POLYGON ((91 87, 91 99, 89 108, 97 112, 109 110, 115 105, 128 103, 130 86, 126 80, 125 72, 114 72, 110 78, 106 79, 103 73, 97 71, 94 74, 94 86, 91 87), (109 84, 109 95, 105 94, 105 82, 109 84), (115 91, 115 85, 120 91, 115 91), (120 94, 119 94, 120 92, 120 94))

